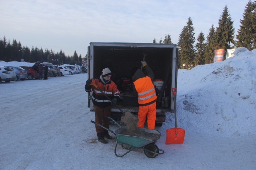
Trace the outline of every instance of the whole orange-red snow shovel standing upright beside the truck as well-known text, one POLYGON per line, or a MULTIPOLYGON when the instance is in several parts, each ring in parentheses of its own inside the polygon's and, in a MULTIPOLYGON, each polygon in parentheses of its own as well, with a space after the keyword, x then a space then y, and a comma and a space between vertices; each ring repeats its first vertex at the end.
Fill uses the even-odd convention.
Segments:
POLYGON ((166 130, 166 141, 165 144, 175 144, 183 143, 185 138, 185 130, 182 128, 177 128, 177 117, 176 117, 176 88, 172 88, 173 98, 174 98, 174 119, 175 128, 170 128, 166 130))

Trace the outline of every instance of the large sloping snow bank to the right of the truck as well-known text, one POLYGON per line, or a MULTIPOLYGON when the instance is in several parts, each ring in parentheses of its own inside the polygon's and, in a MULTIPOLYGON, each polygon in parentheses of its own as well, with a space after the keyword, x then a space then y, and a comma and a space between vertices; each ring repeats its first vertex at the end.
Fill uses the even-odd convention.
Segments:
POLYGON ((180 126, 229 135, 256 134, 256 49, 178 71, 180 126))

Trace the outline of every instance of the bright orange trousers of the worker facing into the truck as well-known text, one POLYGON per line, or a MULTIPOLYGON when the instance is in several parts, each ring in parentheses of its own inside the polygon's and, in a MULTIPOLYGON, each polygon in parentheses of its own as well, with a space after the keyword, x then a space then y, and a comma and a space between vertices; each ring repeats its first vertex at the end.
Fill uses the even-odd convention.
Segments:
POLYGON ((138 113, 138 127, 144 128, 144 123, 147 118, 147 128, 148 129, 155 129, 155 121, 156 121, 156 102, 147 105, 147 106, 140 106, 139 113, 138 113))

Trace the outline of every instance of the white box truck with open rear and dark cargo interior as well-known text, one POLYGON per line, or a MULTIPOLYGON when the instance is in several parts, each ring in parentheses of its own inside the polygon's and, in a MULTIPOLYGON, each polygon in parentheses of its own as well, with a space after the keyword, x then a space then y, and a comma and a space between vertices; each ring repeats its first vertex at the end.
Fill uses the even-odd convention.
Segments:
MULTIPOLYGON (((91 42, 88 46, 88 79, 98 78, 102 70, 108 67, 113 73, 111 80, 121 92, 117 103, 119 108, 111 108, 112 118, 120 120, 120 109, 138 115, 138 99, 133 94, 131 77, 134 70, 141 69, 144 56, 154 72, 156 126, 161 126, 165 122, 166 113, 174 112, 173 97, 176 95, 173 95, 172 89, 177 88, 178 69, 178 48, 175 44, 91 42)), ((91 97, 92 92, 88 93, 88 107, 90 111, 95 111, 91 97)))

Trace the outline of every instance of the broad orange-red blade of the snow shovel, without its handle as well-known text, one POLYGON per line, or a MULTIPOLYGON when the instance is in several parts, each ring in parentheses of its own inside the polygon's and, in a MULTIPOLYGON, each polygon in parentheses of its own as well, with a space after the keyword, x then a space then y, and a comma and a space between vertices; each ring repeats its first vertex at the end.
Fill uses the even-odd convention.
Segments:
POLYGON ((185 130, 182 128, 170 128, 166 130, 165 144, 183 143, 185 138, 185 130))

